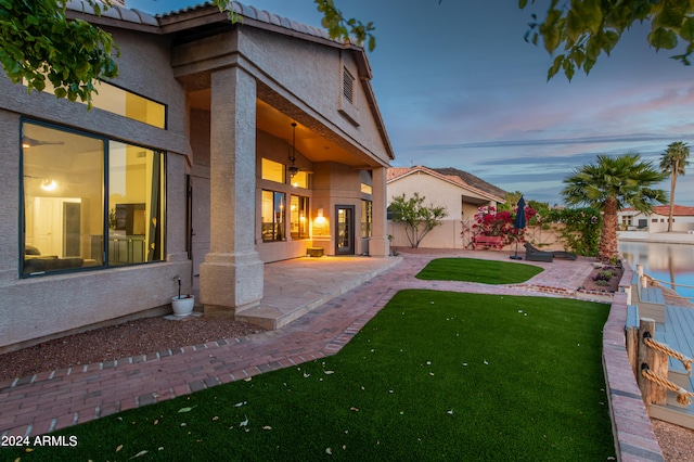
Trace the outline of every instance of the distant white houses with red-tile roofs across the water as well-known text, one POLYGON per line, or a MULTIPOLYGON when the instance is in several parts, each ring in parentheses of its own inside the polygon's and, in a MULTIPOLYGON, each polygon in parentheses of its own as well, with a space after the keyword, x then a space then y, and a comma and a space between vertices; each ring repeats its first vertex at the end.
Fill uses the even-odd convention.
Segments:
MULTIPOLYGON (((653 211, 650 215, 642 214, 633 208, 625 208, 617 213, 617 217, 622 231, 647 230, 651 233, 667 232, 670 206, 657 205, 653 207, 653 211)), ((694 207, 674 205, 672 231, 694 231, 694 207)))

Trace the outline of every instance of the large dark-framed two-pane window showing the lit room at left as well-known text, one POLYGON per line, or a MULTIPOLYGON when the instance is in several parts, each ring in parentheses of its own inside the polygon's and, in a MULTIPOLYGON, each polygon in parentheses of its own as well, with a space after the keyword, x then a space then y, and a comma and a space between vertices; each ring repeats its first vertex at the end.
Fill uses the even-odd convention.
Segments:
POLYGON ((23 274, 164 258, 163 153, 29 121, 22 153, 23 274))

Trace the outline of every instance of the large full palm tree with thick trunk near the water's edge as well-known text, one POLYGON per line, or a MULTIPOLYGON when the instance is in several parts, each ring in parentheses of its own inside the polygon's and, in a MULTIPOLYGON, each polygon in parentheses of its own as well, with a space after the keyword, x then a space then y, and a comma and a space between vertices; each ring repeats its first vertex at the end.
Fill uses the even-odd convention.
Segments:
POLYGON ((665 204, 667 193, 651 187, 666 178, 651 162, 641 161, 640 154, 601 154, 596 163, 577 168, 564 179, 562 195, 569 205, 587 204, 603 213, 597 257, 606 261, 619 256, 617 211, 629 205, 647 214, 656 202, 665 204))

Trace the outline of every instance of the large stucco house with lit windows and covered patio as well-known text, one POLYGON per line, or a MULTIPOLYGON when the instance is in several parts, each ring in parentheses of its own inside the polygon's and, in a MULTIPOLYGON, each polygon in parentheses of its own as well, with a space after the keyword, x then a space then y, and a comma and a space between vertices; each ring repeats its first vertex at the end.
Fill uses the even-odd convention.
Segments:
POLYGON ((237 24, 69 4, 120 73, 91 112, 0 76, 0 350, 166 312, 177 277, 234 316, 265 262, 389 254, 394 153, 362 48, 236 2, 237 24))

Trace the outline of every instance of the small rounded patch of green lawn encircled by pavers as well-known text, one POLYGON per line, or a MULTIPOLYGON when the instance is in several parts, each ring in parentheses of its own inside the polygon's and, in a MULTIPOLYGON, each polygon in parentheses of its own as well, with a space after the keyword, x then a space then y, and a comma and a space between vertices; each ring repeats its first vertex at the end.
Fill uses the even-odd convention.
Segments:
POLYGON ((543 271, 542 268, 510 261, 476 258, 437 258, 416 274, 434 281, 466 281, 485 284, 518 284, 543 271))

